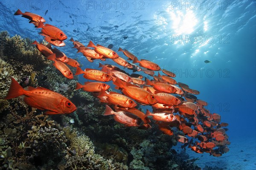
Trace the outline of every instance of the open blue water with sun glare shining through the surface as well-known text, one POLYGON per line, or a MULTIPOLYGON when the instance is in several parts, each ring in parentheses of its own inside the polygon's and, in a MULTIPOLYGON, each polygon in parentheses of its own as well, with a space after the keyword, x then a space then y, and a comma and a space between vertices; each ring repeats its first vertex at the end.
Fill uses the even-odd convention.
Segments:
MULTIPOLYGON (((114 51, 121 47, 139 59, 154 61, 175 72, 177 82, 201 92, 198 98, 209 103, 212 113, 221 115, 221 122, 229 123, 231 142, 246 139, 253 141, 255 148, 256 2, 200 2, 1 0, 0 31, 42 40, 39 29, 13 15, 20 8, 43 16, 68 39, 73 37, 84 45, 89 40, 113 44, 114 51)), ((98 67, 97 61, 90 63, 81 53, 76 54, 72 42, 65 42, 59 49, 71 58, 79 57, 82 68, 98 67)), ((254 152, 250 159, 255 157, 254 152)))

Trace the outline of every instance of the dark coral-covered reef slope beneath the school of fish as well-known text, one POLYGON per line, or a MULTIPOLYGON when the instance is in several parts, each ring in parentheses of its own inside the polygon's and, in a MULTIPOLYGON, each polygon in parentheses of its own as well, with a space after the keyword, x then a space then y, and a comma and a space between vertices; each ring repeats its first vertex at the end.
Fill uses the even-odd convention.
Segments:
POLYGON ((163 135, 156 125, 141 130, 103 116, 105 105, 92 94, 75 90, 78 77, 65 78, 31 42, 0 32, 0 169, 199 169, 185 152, 172 149, 175 137, 163 135), (77 111, 44 116, 22 97, 4 100, 10 76, 23 88, 42 86, 66 96, 77 111))

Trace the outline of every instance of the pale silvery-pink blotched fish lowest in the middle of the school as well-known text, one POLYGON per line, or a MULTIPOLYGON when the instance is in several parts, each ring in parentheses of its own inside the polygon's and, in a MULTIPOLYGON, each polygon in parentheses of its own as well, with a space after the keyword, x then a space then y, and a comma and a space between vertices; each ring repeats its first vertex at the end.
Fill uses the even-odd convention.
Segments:
POLYGON ((122 123, 126 126, 142 126, 143 120, 141 120, 138 116, 125 112, 125 111, 113 111, 108 105, 106 105, 106 110, 104 116, 106 115, 114 115, 114 119, 116 122, 122 123))

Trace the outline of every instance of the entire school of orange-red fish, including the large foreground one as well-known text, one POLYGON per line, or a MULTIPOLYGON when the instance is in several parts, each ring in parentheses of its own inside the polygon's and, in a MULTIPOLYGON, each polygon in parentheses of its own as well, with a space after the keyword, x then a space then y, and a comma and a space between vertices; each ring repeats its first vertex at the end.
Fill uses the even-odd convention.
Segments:
MULTIPOLYGON (((178 142, 184 143, 182 148, 188 146, 196 153, 210 153, 213 156, 221 156, 227 153, 230 144, 226 131, 227 123, 221 122, 221 116, 218 113, 210 113, 205 107, 207 102, 198 99, 195 95, 199 91, 189 88, 188 85, 176 82, 176 75, 166 69, 161 69, 159 65, 145 59, 138 59, 131 52, 119 48, 128 62, 120 57, 115 51, 102 45, 95 45, 92 41, 87 46, 77 40, 70 39, 77 53, 82 53, 89 62, 100 59, 102 62, 112 59, 117 65, 121 65, 133 72, 143 71, 152 79, 143 80, 141 74, 128 74, 116 65, 101 64, 99 69, 86 68, 81 69, 79 63, 67 57, 57 48, 51 45, 64 46, 64 40, 67 36, 59 28, 44 24, 43 17, 30 12, 22 13, 19 9, 15 15, 22 15, 29 19, 35 27, 41 28, 41 34, 44 40, 49 42, 46 46, 42 43, 33 42, 42 55, 53 61, 53 65, 64 77, 73 79, 71 67, 76 67, 75 75, 83 74, 83 77, 94 82, 85 82, 84 85, 77 83, 76 89, 91 92, 100 102, 106 103, 104 115, 113 115, 116 122, 122 123, 127 127, 135 126, 140 129, 150 129, 152 123, 155 123, 163 134, 175 136, 178 142), (136 65, 135 63, 138 63, 136 65), (155 72, 158 71, 157 76, 155 72), (162 72, 162 75, 160 74, 162 72), (110 85, 104 82, 113 81, 116 89, 122 93, 108 91, 110 85), (142 111, 136 109, 137 105, 150 105, 153 110, 142 111), (151 117, 154 121, 151 121, 151 117), (151 125, 150 125, 151 124, 151 125), (176 130, 175 130, 176 129, 176 130), (183 133, 177 133, 178 131, 183 133), (183 134, 183 135, 181 135, 183 134), (189 140, 189 137, 191 138, 189 140)), ((12 99, 17 96, 25 95, 24 102, 27 105, 45 110, 45 115, 67 114, 76 111, 76 106, 66 97, 50 91, 45 88, 23 89, 15 79, 12 78, 12 84, 6 99, 12 99)))

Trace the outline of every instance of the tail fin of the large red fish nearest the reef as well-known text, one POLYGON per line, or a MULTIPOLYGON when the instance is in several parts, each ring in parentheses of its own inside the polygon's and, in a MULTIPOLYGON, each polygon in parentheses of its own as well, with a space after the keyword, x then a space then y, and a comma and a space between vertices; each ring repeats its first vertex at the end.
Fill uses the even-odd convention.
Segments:
POLYGON ((13 77, 11 77, 11 79, 12 83, 10 85, 8 94, 4 99, 12 99, 26 94, 26 91, 21 87, 21 85, 13 77))

